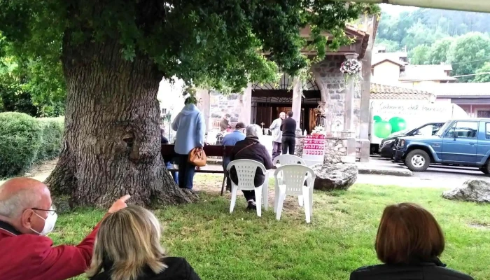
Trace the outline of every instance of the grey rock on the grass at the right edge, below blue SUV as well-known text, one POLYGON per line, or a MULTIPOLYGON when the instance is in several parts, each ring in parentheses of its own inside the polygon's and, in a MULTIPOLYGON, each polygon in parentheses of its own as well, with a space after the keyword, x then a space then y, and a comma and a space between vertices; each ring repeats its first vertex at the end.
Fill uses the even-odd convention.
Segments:
POLYGON ((490 182, 468 180, 461 187, 445 191, 442 197, 447 200, 490 203, 490 182))

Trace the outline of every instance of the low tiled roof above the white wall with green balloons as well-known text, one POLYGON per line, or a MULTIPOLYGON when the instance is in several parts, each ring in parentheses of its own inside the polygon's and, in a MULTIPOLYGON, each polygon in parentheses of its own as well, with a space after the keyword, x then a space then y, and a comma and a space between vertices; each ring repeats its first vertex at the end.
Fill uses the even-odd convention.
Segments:
POLYGON ((397 87, 394 85, 371 84, 370 99, 417 99, 430 100, 434 94, 414 88, 397 87))

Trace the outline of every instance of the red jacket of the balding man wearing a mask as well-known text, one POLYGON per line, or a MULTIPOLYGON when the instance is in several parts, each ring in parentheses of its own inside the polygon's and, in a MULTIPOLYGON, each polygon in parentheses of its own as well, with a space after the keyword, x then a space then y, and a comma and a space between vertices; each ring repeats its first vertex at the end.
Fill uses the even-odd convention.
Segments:
POLYGON ((0 280, 64 280, 85 272, 92 259, 97 225, 77 246, 52 246, 39 235, 20 235, 0 221, 0 280))

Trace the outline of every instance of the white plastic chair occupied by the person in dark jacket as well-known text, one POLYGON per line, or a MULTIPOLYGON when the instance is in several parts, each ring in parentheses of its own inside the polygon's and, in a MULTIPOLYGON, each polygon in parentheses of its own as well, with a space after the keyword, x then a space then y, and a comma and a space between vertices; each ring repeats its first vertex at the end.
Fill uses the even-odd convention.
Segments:
POLYGON ((234 160, 228 164, 226 170, 230 174, 230 169, 235 167, 238 177, 238 185, 232 180, 232 201, 230 203, 230 214, 232 214, 235 204, 237 202, 238 190, 254 190, 255 191, 255 203, 257 204, 257 216, 262 216, 262 199, 264 200, 265 210, 267 210, 267 171, 265 166, 255 160, 234 160), (253 179, 255 179, 255 172, 257 168, 262 170, 265 175, 265 181, 262 186, 255 188, 253 179))

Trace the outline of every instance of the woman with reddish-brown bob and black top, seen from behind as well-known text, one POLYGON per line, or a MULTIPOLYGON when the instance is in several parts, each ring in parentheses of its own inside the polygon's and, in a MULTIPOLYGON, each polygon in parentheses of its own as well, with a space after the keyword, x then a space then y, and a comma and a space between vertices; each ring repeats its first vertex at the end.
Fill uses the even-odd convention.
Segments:
POLYGON ((384 209, 375 248, 384 265, 360 267, 351 273, 351 280, 472 280, 439 260, 444 235, 432 214, 417 204, 384 209))

